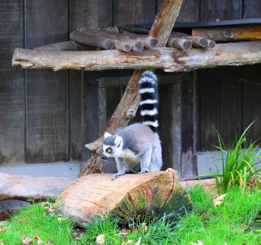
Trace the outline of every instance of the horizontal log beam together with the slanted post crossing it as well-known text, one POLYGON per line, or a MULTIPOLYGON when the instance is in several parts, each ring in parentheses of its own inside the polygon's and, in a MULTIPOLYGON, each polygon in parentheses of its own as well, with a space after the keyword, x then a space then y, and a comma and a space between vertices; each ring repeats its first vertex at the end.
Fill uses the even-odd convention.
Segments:
MULTIPOLYGON (((125 127, 128 121, 135 116, 139 102, 137 81, 143 71, 142 69, 159 68, 166 72, 180 72, 219 65, 261 63, 260 41, 219 44, 212 50, 193 48, 184 51, 164 48, 179 14, 181 3, 182 0, 161 1, 159 12, 149 33, 149 36, 159 39, 159 48, 156 50, 126 54, 118 50, 47 52, 17 49, 14 52, 12 64, 26 69, 50 69, 55 71, 63 69, 85 71, 141 69, 135 70, 133 73, 120 104, 106 126, 106 131, 113 133, 119 127, 125 127)), ((100 160, 99 156, 102 139, 101 135, 98 140, 88 145, 93 153, 86 167, 82 169, 81 175, 100 173, 104 168, 105 162, 100 160)))

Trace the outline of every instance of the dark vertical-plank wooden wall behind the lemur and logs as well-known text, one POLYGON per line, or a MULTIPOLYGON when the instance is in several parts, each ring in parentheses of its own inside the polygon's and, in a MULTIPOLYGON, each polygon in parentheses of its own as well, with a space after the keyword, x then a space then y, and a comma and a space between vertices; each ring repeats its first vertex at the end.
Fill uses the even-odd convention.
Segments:
MULTIPOLYGON (((0 165, 87 160, 89 151, 83 145, 95 140, 104 125, 104 116, 98 113, 104 107, 100 103, 102 90, 98 79, 132 73, 14 69, 11 67, 14 48, 65 41, 71 30, 81 26, 152 23, 159 3, 159 0, 0 2, 0 165)), ((258 0, 183 0, 177 21, 256 18, 261 17, 260 8, 258 0)), ((174 93, 181 106, 176 109, 181 113, 177 124, 182 134, 179 139, 172 138, 172 149, 177 139, 181 140, 184 158, 181 165, 182 161, 190 162, 190 167, 184 165, 185 169, 181 169, 183 175, 194 173, 192 153, 211 149, 209 145, 215 142, 212 124, 229 142, 234 131, 242 130, 253 118, 260 118, 256 106, 260 104, 260 86, 253 85, 259 83, 259 77, 258 65, 220 67, 190 74, 180 85, 161 89, 162 98, 172 98, 174 93), (194 101, 198 101, 197 109, 194 101), (198 115, 196 127, 192 124, 193 115, 198 115), (195 141, 188 138, 195 138, 196 148, 195 141)), ((106 96, 112 98, 113 90, 106 96)), ((168 120, 166 111, 164 115, 161 120, 168 120)), ((260 120, 253 127, 253 136, 260 134, 260 120)), ((167 131, 170 130, 168 125, 167 131)), ((166 142, 169 140, 166 136, 166 142)), ((170 148, 164 149, 168 162, 170 148)))

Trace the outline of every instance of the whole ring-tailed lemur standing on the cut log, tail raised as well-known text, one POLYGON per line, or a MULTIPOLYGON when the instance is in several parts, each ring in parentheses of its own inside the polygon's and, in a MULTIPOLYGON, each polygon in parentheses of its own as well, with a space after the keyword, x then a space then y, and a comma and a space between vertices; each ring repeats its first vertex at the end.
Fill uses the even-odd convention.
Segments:
POLYGON ((157 76, 150 71, 139 78, 139 94, 141 96, 140 114, 143 123, 135 123, 111 135, 104 134, 103 153, 101 158, 115 158, 117 173, 111 180, 129 173, 148 173, 162 167, 161 141, 156 132, 159 126, 159 94, 157 76))

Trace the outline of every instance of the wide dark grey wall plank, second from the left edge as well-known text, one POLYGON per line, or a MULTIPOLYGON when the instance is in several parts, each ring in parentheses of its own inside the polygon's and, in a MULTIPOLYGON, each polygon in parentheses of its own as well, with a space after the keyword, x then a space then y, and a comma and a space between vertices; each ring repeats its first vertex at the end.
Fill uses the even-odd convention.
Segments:
MULTIPOLYGON (((67 40, 67 2, 31 1, 25 12, 26 47, 67 40)), ((68 72, 27 71, 26 78, 25 161, 68 161, 68 72)))

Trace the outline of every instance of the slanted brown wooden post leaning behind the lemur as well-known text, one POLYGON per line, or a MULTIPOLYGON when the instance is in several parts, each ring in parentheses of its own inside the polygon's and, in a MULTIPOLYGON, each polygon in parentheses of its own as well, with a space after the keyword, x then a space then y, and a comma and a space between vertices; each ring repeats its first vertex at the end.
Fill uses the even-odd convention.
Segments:
MULTIPOLYGON (((170 32, 174 26, 174 23, 179 15, 182 0, 163 0, 159 6, 159 10, 155 17, 155 21, 152 24, 152 28, 148 36, 159 39, 159 47, 164 47, 170 36, 170 32)), ((128 82, 126 91, 122 96, 122 100, 115 109, 113 116, 109 120, 105 131, 114 133, 119 127, 126 127, 129 120, 127 112, 133 111, 135 114, 139 105, 139 96, 137 93, 139 77, 143 70, 135 70, 131 80, 128 82)), ((87 175, 89 173, 100 173, 104 168, 106 162, 100 158, 102 152, 103 135, 95 140, 89 149, 92 149, 91 158, 80 172, 80 176, 87 175)))

